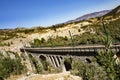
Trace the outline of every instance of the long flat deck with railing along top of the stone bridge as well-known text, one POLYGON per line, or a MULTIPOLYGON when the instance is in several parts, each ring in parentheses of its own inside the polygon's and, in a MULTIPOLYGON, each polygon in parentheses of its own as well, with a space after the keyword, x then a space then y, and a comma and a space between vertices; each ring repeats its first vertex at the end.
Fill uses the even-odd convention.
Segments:
MULTIPOLYGON (((120 45, 113 45, 111 49, 120 50, 120 45)), ((43 48, 21 48, 21 51, 28 51, 32 53, 61 53, 61 52, 95 52, 99 50, 105 50, 105 46, 103 45, 94 45, 94 46, 76 46, 76 47, 43 47, 43 48)))

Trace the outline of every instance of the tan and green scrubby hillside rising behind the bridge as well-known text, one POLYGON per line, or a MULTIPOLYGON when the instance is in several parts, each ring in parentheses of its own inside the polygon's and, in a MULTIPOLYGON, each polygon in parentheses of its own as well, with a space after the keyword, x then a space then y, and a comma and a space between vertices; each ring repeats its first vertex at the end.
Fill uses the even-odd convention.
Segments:
POLYGON ((105 36, 101 25, 102 17, 104 17, 104 21, 107 22, 106 26, 113 38, 113 42, 118 43, 120 41, 120 6, 111 11, 107 10, 97 13, 107 14, 97 18, 90 18, 88 20, 75 21, 67 24, 62 23, 47 28, 38 26, 30 29, 16 28, 0 30, 0 48, 9 48, 8 50, 12 50, 17 47, 17 50, 19 50, 23 45, 35 46, 35 39, 39 39, 39 44, 41 44, 37 44, 37 46, 69 46, 71 45, 70 34, 73 36, 74 45, 102 44, 101 39, 99 39, 105 36), (116 14, 116 17, 114 17, 114 14, 116 14), (108 18, 109 16, 112 17, 108 18))

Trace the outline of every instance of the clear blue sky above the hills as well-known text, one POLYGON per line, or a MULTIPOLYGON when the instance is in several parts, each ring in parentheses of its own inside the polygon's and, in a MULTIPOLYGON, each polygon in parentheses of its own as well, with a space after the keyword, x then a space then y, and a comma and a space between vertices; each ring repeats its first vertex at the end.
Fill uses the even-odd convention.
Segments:
POLYGON ((50 26, 118 5, 120 0, 0 0, 0 29, 50 26))

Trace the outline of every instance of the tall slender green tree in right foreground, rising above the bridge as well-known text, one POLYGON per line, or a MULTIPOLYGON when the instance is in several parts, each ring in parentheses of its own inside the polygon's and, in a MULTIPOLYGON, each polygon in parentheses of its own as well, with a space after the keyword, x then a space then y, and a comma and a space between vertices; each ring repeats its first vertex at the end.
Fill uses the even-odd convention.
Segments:
POLYGON ((105 68, 109 80, 120 80, 120 64, 115 63, 115 59, 113 58, 115 54, 110 49, 112 40, 104 24, 103 27, 106 34, 106 38, 104 39, 105 50, 98 53, 96 57, 97 62, 101 67, 105 68))

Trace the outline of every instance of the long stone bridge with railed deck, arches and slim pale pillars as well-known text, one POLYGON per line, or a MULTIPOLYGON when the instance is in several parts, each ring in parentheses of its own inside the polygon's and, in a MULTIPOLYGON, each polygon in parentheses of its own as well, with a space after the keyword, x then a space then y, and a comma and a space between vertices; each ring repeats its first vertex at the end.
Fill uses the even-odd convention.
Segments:
MULTIPOLYGON (((113 45, 110 49, 112 52, 120 53, 120 45, 113 45)), ((38 59, 48 60, 54 67, 60 67, 64 64, 66 56, 84 61, 96 56, 96 53, 105 50, 105 47, 103 45, 94 45, 76 47, 21 48, 20 50, 21 52, 27 52, 38 59)))

